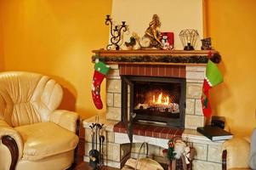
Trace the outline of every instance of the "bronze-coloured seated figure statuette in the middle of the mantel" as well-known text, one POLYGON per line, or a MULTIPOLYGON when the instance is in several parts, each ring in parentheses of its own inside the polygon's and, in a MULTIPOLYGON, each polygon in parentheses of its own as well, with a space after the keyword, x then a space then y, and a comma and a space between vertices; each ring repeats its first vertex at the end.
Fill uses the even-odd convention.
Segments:
POLYGON ((140 44, 142 48, 162 48, 160 26, 159 17, 154 14, 144 37, 141 38, 140 44))

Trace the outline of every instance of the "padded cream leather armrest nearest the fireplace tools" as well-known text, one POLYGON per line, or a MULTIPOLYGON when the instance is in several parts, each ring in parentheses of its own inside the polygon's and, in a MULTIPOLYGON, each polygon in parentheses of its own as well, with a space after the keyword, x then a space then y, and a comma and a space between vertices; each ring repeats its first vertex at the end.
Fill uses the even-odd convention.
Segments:
POLYGON ((77 130, 77 120, 78 114, 73 111, 56 110, 49 115, 50 122, 54 122, 73 133, 76 133, 77 130))

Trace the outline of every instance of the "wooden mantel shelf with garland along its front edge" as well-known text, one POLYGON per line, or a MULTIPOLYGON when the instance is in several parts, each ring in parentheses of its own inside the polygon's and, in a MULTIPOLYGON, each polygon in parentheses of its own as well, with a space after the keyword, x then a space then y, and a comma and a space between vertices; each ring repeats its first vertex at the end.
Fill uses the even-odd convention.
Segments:
POLYGON ((220 59, 215 50, 93 50, 95 59, 100 59, 108 64, 132 64, 132 65, 206 65, 208 53, 213 55, 210 58, 220 59))

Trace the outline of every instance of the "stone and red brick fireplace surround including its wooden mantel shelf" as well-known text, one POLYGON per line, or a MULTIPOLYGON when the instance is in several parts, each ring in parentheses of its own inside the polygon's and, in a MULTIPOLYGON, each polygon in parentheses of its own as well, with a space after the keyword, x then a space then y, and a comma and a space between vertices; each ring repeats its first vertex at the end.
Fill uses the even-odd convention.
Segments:
MULTIPOLYGON (((136 95, 134 94, 134 89, 136 89, 134 82, 141 82, 142 85, 139 88, 142 88, 143 86, 148 87, 149 84, 146 83, 150 81, 157 82, 158 86, 159 82, 171 83, 176 80, 177 83, 178 80, 178 82, 184 82, 182 85, 184 88, 178 86, 182 92, 175 104, 178 103, 179 108, 173 112, 164 108, 161 114, 174 116, 174 113, 179 111, 179 118, 164 122, 161 118, 147 120, 147 118, 139 116, 138 119, 149 121, 142 123, 135 119, 132 156, 137 156, 140 143, 146 141, 150 144, 150 155, 156 161, 165 162, 166 160, 162 157, 162 149, 168 147, 168 139, 180 136, 196 148, 197 154, 193 161, 193 169, 221 169, 221 143, 213 143, 196 133, 195 130, 196 127, 204 125, 201 94, 208 51, 100 50, 94 51, 94 53, 96 55, 93 59, 97 57, 111 65, 111 71, 106 77, 106 113, 100 118, 101 122, 105 123, 107 131, 105 163, 111 167, 122 167, 123 162, 130 156, 128 155, 128 129, 125 123, 129 121, 131 110, 134 111, 134 107, 138 104, 136 102, 136 105, 134 104, 136 95), (131 82, 133 83, 131 84, 131 82), (163 124, 152 125, 151 122, 154 119, 163 124)), ((217 54, 215 51, 212 53, 217 54)), ((139 111, 143 111, 142 107, 139 111)), ((159 112, 157 114, 159 115, 159 112)), ((86 137, 84 161, 88 161, 88 150, 90 150, 88 126, 91 122, 94 122, 94 117, 83 122, 86 137)))

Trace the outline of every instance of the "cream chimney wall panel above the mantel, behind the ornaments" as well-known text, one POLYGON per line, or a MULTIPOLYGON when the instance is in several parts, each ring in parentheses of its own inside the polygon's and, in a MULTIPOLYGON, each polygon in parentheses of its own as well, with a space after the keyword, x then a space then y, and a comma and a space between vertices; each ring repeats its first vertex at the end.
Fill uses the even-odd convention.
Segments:
POLYGON ((160 18, 160 31, 174 32, 174 48, 183 49, 179 32, 185 29, 196 29, 199 39, 196 49, 201 48, 203 38, 203 0, 113 0, 111 18, 117 24, 127 21, 129 34, 124 35, 128 41, 132 32, 143 37, 151 22, 153 14, 160 18))

